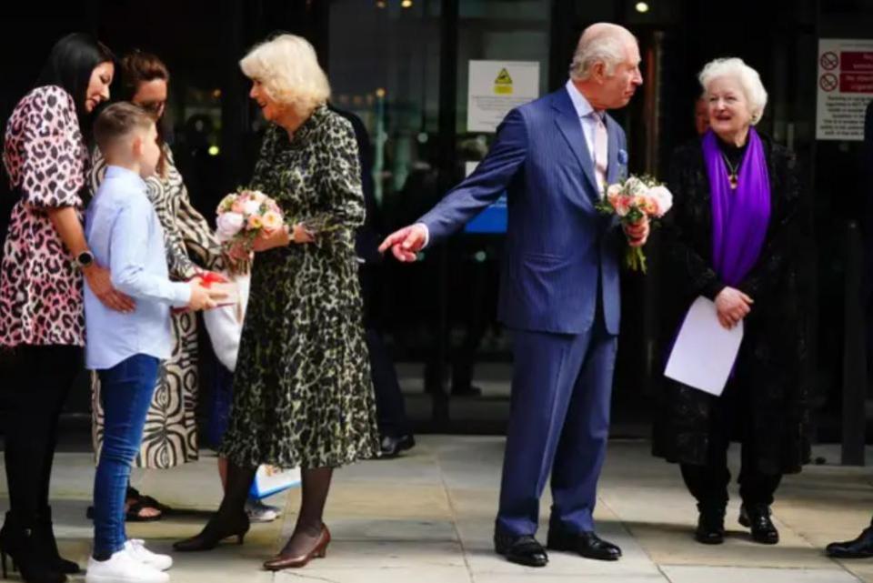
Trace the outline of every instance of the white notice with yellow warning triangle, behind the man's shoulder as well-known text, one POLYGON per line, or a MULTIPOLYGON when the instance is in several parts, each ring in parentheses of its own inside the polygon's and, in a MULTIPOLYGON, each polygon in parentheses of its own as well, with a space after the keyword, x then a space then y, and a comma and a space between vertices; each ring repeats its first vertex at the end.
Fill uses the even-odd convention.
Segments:
POLYGON ((467 131, 496 132, 513 107, 537 97, 538 61, 470 61, 467 131))

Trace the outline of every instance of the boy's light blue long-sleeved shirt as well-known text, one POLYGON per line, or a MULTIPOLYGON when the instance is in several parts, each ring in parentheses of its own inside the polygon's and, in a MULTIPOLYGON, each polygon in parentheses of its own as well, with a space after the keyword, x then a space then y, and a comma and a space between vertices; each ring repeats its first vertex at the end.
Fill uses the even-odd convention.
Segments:
POLYGON ((135 172, 109 166, 85 213, 85 238, 96 262, 109 269, 115 289, 133 297, 136 308, 116 312, 85 285, 85 363, 103 370, 145 354, 167 358, 173 347, 170 307, 185 307, 191 288, 171 282, 164 229, 135 172))

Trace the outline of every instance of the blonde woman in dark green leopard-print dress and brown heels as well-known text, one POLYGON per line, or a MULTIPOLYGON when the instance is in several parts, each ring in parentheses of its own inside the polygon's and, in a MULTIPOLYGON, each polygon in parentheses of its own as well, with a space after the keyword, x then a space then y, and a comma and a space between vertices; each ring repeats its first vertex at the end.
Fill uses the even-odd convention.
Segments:
POLYGON ((256 240, 218 513, 178 550, 242 537, 259 464, 301 467, 294 534, 268 569, 302 567, 326 548, 322 513, 333 468, 379 451, 364 343, 354 232, 364 222, 351 124, 329 111, 327 79, 306 40, 280 35, 241 62, 268 121, 252 186, 273 196, 286 226, 256 240))

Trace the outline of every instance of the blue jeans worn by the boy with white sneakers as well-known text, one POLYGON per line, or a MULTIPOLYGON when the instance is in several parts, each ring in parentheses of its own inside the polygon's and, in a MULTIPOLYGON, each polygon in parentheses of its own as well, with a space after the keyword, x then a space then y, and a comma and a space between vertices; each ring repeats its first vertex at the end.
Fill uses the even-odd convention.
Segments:
POLYGON ((124 548, 125 497, 130 467, 139 452, 159 361, 138 354, 98 371, 103 401, 103 449, 94 479, 94 558, 124 548))

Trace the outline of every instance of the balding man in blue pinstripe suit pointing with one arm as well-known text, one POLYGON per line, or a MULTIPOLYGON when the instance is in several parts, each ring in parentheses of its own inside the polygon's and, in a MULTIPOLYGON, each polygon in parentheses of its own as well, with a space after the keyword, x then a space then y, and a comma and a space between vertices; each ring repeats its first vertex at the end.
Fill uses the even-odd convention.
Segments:
MULTIPOLYGON (((512 330, 515 366, 495 549, 543 567, 539 498, 551 475, 547 546, 616 560, 592 512, 606 453, 619 318, 617 221, 596 205, 627 175, 625 133, 606 114, 642 84, 637 39, 617 25, 589 26, 570 79, 513 109, 476 172, 418 223, 383 242, 400 261, 452 235, 507 192, 506 257, 498 315, 512 330)), ((626 229, 643 245, 646 222, 626 229)))

